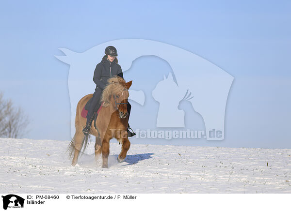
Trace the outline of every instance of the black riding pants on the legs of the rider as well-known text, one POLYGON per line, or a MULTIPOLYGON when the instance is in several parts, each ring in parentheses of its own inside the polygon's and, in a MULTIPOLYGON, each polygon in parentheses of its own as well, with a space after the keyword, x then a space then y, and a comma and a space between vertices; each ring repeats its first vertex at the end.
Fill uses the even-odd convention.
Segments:
MULTIPOLYGON (((88 125, 91 125, 91 123, 92 123, 91 119, 93 119, 94 111, 97 110, 101 105, 101 102, 100 102, 101 94, 102 94, 102 90, 100 90, 100 89, 96 89, 94 94, 93 94, 92 101, 90 103, 88 114, 87 114, 86 124, 88 124, 88 125)), ((127 104, 127 110, 130 114, 131 105, 129 104, 129 102, 127 104)))

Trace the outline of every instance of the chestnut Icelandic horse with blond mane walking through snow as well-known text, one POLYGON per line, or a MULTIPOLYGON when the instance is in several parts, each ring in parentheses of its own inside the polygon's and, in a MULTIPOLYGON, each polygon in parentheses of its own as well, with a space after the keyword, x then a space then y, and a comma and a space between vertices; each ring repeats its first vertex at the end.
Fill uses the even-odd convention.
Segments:
MULTIPOLYGON (((116 138, 119 144, 122 144, 122 149, 117 157, 119 162, 122 162, 130 147, 128 139, 128 112, 127 102, 129 98, 129 87, 132 81, 128 83, 119 76, 114 76, 108 79, 108 85, 102 91, 101 101, 102 108, 99 111, 96 120, 97 129, 93 126, 90 134, 96 136, 95 143, 95 159, 97 160, 102 152, 102 167, 108 168, 109 141, 116 138)), ((81 111, 93 94, 88 94, 79 101, 76 113, 76 133, 71 143, 68 146, 69 156, 73 157, 72 166, 76 166, 78 156, 84 145, 83 152, 89 144, 89 135, 84 136, 82 129, 86 125, 86 118, 81 117, 81 111), (74 156, 73 156, 74 154, 74 156)))

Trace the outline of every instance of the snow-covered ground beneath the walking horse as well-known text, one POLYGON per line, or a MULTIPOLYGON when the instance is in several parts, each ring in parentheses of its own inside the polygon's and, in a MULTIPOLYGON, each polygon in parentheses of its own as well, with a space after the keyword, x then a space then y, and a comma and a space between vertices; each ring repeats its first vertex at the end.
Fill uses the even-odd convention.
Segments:
POLYGON ((0 138, 1 193, 291 193, 291 149, 131 144, 123 163, 111 141, 109 168, 94 145, 70 166, 69 141, 0 138))

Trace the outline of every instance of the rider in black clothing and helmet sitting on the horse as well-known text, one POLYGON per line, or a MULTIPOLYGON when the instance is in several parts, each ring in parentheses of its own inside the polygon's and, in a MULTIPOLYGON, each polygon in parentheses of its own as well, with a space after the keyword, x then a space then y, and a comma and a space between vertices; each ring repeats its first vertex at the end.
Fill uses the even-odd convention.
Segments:
MULTIPOLYGON (((97 64, 93 81, 96 83, 96 89, 93 94, 91 104, 89 106, 88 114, 87 114, 87 122, 86 126, 83 129, 84 135, 88 135, 91 130, 91 124, 93 121, 94 110, 95 108, 99 108, 101 105, 100 98, 102 94, 102 90, 106 87, 107 79, 113 77, 114 75, 118 75, 123 78, 122 70, 120 65, 117 63, 117 50, 113 46, 108 46, 105 48, 105 56, 102 58, 101 62, 97 64)), ((130 114, 131 105, 128 102, 127 105, 128 112, 130 114)), ((128 116, 129 117, 129 116, 128 116)), ((135 136, 135 133, 132 131, 128 125, 128 136, 135 136)))

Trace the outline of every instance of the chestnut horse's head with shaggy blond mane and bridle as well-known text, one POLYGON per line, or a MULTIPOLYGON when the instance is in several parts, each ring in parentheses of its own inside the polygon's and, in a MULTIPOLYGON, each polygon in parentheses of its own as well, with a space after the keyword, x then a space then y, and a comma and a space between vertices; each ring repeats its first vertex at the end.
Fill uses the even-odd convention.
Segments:
POLYGON ((108 83, 102 92, 103 106, 112 105, 113 109, 118 111, 119 118, 125 119, 129 115, 127 111, 128 90, 132 81, 126 83, 122 77, 115 76, 108 79, 108 83))

